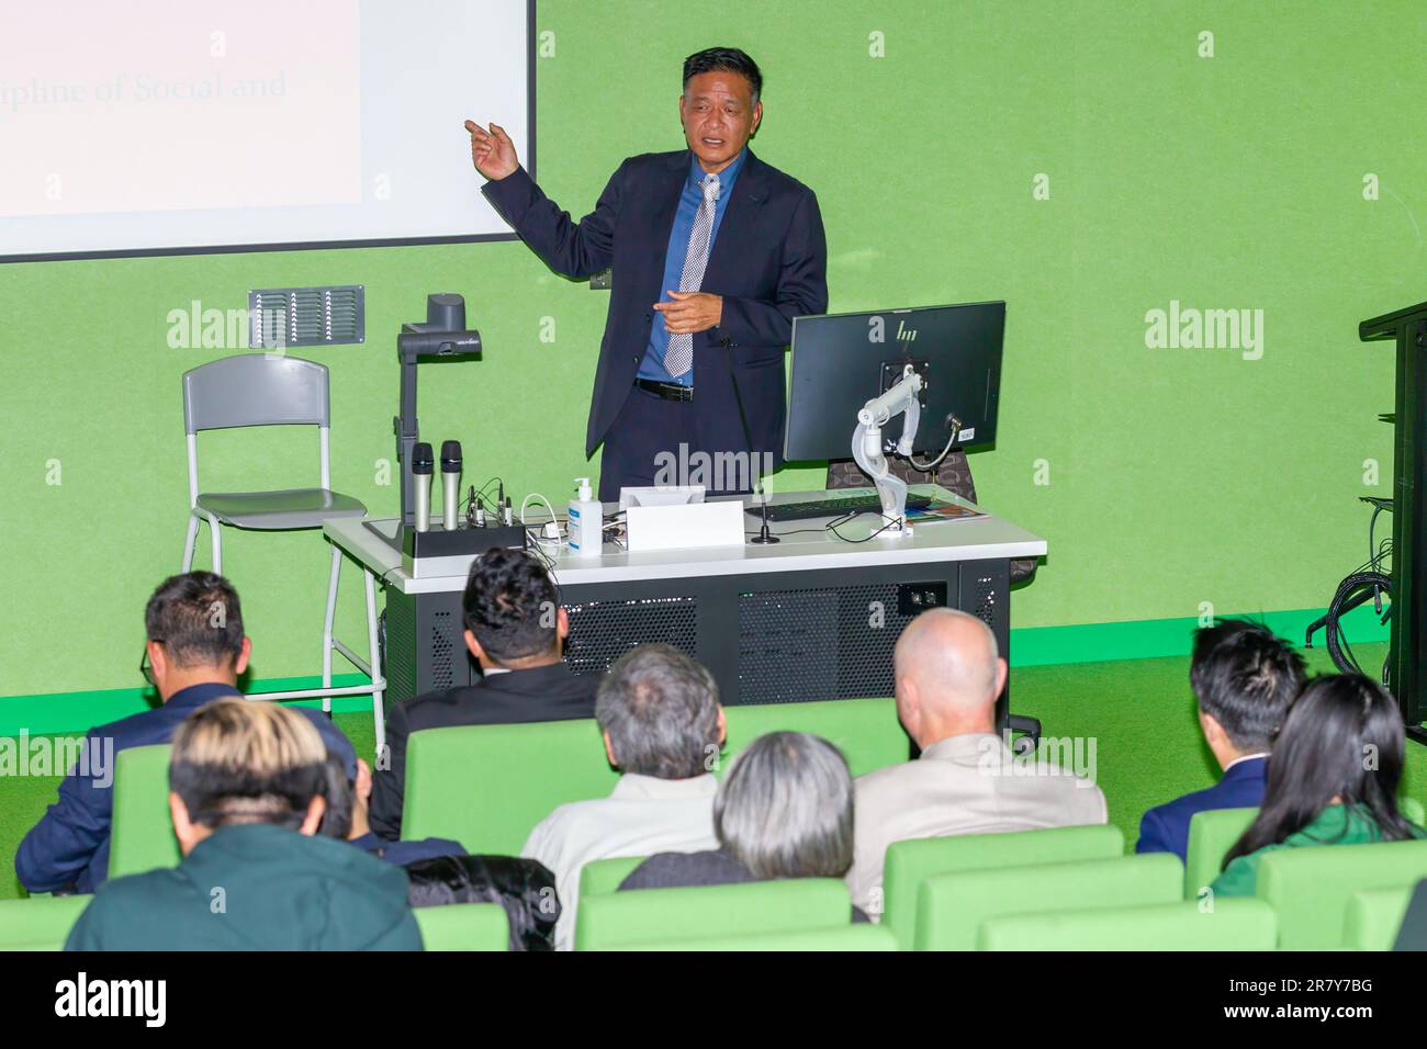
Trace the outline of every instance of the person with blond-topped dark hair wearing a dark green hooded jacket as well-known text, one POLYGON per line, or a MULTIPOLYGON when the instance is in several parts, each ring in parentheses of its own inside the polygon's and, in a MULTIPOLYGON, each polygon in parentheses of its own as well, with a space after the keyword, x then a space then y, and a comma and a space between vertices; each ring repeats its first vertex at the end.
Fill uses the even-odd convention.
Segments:
POLYGON ((325 764, 284 706, 194 711, 168 766, 183 862, 98 886, 66 951, 421 951, 405 871, 317 836, 325 764))

